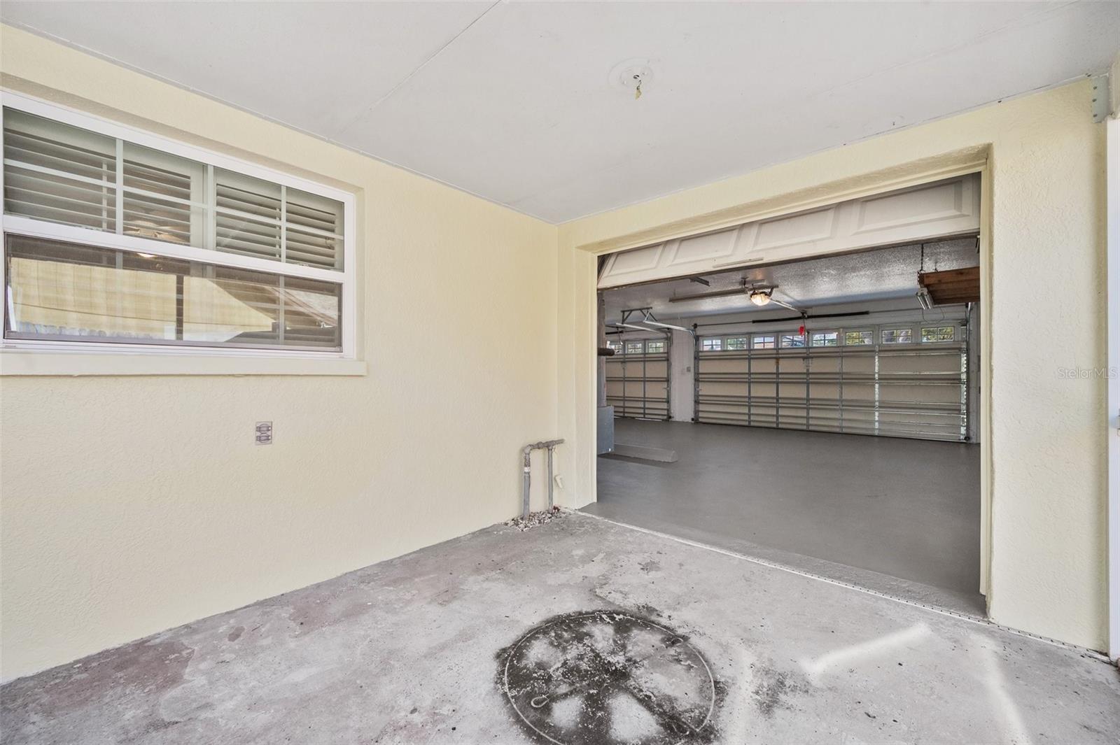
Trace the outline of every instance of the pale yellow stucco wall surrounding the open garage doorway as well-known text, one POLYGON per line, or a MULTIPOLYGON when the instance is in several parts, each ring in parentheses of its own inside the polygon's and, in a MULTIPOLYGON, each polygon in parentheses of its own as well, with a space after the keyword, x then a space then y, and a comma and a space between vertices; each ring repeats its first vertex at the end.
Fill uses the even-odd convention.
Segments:
MULTIPOLYGON (((562 225, 559 411, 577 412, 560 421, 575 441, 566 458, 594 442, 595 277, 585 256, 987 158, 989 610, 999 623, 1104 649, 1105 381, 1067 372, 1107 365, 1104 130, 1091 119, 1091 87, 1081 81, 562 225), (1039 277, 1060 304, 1039 302, 1039 277)), ((578 500, 592 499, 594 459, 577 475, 578 500)))

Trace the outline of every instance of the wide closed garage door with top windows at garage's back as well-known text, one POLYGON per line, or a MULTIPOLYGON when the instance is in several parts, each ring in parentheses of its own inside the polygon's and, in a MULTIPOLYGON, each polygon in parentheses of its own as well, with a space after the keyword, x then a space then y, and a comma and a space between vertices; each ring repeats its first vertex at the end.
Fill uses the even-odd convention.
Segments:
POLYGON ((699 336, 696 418, 964 441, 967 361, 958 322, 699 336))

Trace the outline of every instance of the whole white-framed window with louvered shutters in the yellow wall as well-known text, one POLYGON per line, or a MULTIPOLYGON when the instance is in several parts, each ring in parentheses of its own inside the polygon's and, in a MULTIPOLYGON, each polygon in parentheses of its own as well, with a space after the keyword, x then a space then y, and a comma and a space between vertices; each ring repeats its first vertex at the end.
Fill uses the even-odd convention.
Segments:
POLYGON ((3 346, 353 356, 352 195, 9 101, 3 346))

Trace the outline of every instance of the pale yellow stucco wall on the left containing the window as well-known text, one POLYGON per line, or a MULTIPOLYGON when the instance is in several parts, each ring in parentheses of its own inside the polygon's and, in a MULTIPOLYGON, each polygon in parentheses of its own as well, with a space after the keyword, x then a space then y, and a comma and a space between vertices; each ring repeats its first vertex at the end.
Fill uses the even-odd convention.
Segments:
POLYGON ((519 451, 557 433, 556 227, 11 28, 0 46, 8 89, 355 191, 368 365, 0 378, 0 677, 516 513, 519 451))

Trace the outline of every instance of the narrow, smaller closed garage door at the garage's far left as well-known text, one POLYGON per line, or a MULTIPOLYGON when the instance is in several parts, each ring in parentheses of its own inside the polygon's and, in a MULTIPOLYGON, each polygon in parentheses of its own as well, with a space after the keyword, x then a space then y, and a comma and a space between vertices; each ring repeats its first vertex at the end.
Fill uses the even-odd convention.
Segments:
POLYGON ((670 339, 607 343, 615 350, 606 358, 607 405, 615 407, 615 416, 668 419, 670 339))

